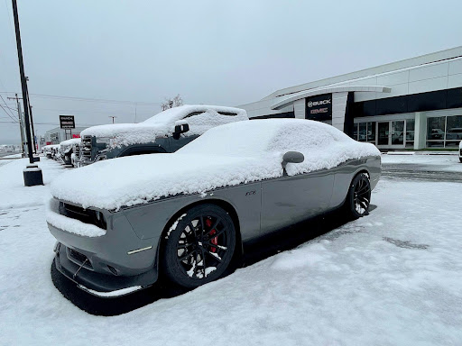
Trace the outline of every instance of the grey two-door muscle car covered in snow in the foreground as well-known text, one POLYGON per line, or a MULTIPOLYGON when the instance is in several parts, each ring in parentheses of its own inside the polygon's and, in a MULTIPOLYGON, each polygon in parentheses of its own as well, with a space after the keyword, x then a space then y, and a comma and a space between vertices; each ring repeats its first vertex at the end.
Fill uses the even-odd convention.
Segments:
POLYGON ((161 271, 198 287, 231 269, 245 241, 342 205, 352 218, 368 214, 380 174, 373 144, 325 123, 218 126, 175 153, 104 160, 53 180, 55 265, 97 296, 149 287, 161 271))

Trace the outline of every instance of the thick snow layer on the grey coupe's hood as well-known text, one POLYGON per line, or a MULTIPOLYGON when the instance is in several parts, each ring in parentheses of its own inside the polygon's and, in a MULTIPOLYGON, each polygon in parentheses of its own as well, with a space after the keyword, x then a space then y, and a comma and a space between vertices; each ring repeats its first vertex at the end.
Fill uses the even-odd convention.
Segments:
POLYGON ((83 207, 113 210, 281 176, 281 163, 273 162, 170 153, 110 159, 62 174, 51 183, 51 194, 83 207))

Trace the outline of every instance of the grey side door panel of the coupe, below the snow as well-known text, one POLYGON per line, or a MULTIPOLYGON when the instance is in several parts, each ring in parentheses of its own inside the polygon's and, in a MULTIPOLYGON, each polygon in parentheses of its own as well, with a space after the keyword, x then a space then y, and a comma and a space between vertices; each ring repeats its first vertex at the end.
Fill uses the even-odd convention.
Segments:
POLYGON ((261 232, 273 232, 328 210, 334 174, 329 170, 262 182, 261 232))

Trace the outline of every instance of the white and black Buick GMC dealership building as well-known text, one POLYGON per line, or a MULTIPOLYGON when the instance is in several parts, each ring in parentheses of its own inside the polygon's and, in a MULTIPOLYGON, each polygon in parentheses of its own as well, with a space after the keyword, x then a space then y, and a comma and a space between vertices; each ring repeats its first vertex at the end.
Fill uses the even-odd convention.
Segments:
POLYGON ((462 47, 278 90, 239 105, 250 118, 330 123, 379 149, 457 148, 462 47))

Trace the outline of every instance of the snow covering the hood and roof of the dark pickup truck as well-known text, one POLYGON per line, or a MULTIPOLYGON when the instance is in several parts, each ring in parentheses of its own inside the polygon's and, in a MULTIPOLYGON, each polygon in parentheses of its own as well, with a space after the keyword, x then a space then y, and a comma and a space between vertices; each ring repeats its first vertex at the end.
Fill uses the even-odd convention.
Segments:
POLYGON ((92 126, 81 132, 112 139, 110 146, 131 145, 155 141, 156 137, 171 135, 175 125, 189 124, 189 132, 184 135, 202 134, 209 128, 237 121, 248 120, 245 110, 218 105, 181 105, 152 116, 143 123, 115 123, 92 126), (189 114, 194 114, 188 116, 189 114), (228 115, 236 114, 236 115, 228 115), (188 116, 187 118, 185 118, 188 116), (185 118, 185 119, 183 119, 185 118))

